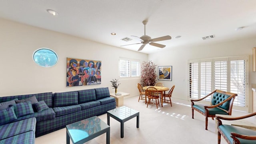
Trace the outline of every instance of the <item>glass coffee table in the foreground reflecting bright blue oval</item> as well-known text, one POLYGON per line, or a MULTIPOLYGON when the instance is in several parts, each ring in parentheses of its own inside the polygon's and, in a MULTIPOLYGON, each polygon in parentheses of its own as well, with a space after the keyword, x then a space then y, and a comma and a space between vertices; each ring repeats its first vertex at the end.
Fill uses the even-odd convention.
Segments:
POLYGON ((106 143, 110 144, 110 126, 97 116, 66 125, 66 143, 83 144, 106 132, 106 143))

